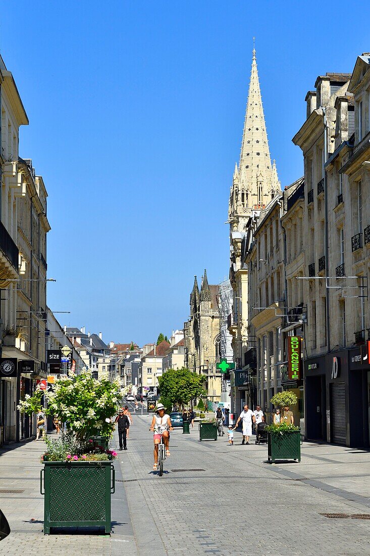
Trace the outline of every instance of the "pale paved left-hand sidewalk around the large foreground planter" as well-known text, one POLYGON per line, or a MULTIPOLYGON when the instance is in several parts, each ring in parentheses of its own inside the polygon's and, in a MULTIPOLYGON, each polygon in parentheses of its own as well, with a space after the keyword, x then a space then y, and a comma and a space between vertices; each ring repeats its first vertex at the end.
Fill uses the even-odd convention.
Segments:
MULTIPOLYGON (((113 439, 115 445, 116 439, 113 439)), ((43 534, 44 500, 40 494, 39 457, 44 451, 42 440, 17 443, 0 450, 0 504, 8 519, 11 534, 0 543, 0 554, 44 554, 53 556, 107 556, 123 550, 137 554, 120 456, 116 468, 116 493, 112 495, 112 534, 43 534)))

